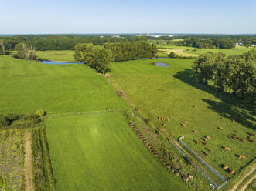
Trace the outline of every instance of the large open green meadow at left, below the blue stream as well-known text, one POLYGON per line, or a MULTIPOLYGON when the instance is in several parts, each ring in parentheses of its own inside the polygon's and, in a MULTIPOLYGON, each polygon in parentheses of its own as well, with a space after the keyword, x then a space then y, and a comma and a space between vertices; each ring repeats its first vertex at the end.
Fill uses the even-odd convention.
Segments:
POLYGON ((0 113, 125 109, 109 82, 86 65, 47 65, 0 56, 0 113))

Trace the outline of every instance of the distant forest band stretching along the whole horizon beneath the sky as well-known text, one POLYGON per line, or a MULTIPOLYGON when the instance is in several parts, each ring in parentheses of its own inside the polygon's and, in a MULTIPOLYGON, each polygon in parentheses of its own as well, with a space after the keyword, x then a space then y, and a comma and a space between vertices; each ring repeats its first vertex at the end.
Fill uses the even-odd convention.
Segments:
POLYGON ((78 43, 104 45, 114 42, 137 42, 147 40, 183 39, 172 42, 176 45, 200 49, 232 49, 237 45, 256 45, 256 35, 174 35, 174 36, 135 36, 135 35, 12 35, 0 37, 5 51, 15 49, 20 42, 32 45, 36 50, 73 50, 78 43))

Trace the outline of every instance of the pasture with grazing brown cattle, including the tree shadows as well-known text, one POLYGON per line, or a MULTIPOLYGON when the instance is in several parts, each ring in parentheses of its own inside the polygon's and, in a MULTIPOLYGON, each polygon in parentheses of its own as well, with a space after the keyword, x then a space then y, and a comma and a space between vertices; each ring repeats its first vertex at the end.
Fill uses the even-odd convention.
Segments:
POLYGON ((230 95, 220 95, 212 87, 196 82, 191 72, 192 62, 193 59, 115 62, 111 65, 111 80, 155 127, 162 125, 157 117, 169 117, 166 131, 175 138, 184 136, 183 142, 229 178, 230 173, 222 169, 224 165, 237 172, 256 155, 254 142, 228 136, 247 138, 247 132, 255 134, 255 116, 244 106, 234 104, 230 95), (169 68, 156 67, 151 62, 165 62, 169 68), (233 118, 236 122, 231 121, 233 118), (186 128, 180 125, 183 121, 189 122, 186 128), (220 126, 224 130, 218 129, 220 126), (211 137, 206 146, 193 142, 193 139, 202 141, 203 136, 211 137), (223 146, 230 147, 231 152, 223 146), (212 152, 204 156, 207 148, 212 152), (247 159, 238 159, 239 155, 247 159))

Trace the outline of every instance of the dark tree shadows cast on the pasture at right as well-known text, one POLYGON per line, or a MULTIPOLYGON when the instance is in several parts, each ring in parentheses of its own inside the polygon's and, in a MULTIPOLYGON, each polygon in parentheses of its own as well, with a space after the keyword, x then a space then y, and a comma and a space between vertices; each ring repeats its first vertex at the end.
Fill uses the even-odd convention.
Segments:
POLYGON ((235 119, 235 122, 246 126, 249 129, 255 130, 254 119, 254 106, 247 101, 242 101, 241 99, 233 99, 233 95, 229 92, 218 92, 213 86, 203 85, 193 78, 193 73, 191 69, 183 69, 183 71, 177 72, 173 75, 176 79, 182 82, 200 89, 203 92, 214 95, 217 99, 222 102, 216 102, 210 99, 202 99, 203 102, 207 102, 209 109, 217 112, 220 116, 227 119, 235 119))

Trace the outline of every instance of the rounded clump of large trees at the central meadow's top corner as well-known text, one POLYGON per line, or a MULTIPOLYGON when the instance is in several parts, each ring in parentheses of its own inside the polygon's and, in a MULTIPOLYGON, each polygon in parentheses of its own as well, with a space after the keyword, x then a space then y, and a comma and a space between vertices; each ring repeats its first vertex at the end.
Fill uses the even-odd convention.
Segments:
POLYGON ((114 61, 111 50, 94 44, 77 44, 74 57, 77 62, 84 62, 101 73, 107 72, 110 63, 114 61))

